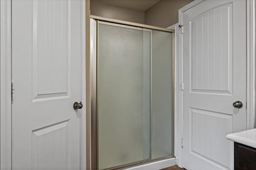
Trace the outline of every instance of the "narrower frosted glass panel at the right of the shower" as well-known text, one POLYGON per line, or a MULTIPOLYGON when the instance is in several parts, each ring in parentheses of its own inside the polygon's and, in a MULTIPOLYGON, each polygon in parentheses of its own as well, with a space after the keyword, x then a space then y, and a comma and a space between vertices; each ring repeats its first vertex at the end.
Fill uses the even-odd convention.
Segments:
POLYGON ((172 33, 152 30, 151 159, 173 155, 172 33))

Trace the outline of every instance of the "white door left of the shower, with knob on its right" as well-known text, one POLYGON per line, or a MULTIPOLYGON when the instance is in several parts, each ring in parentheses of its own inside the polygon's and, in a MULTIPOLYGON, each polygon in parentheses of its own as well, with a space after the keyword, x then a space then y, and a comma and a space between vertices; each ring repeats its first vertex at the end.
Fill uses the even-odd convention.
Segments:
POLYGON ((80 35, 80 0, 12 0, 12 170, 80 169, 80 35))

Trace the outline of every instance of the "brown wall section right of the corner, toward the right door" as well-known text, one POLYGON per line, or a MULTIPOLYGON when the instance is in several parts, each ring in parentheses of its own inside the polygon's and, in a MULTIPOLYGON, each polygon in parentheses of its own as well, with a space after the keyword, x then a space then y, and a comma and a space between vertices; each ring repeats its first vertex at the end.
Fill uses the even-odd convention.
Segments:
POLYGON ((145 12, 145 24, 167 28, 178 22, 178 10, 193 0, 160 0, 145 12))

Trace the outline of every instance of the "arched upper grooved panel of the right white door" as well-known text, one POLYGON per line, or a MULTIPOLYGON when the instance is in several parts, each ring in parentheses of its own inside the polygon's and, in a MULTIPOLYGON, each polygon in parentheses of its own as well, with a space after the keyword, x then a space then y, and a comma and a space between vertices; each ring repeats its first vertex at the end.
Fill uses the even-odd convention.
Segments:
POLYGON ((232 4, 190 22, 192 92, 232 93, 232 4))

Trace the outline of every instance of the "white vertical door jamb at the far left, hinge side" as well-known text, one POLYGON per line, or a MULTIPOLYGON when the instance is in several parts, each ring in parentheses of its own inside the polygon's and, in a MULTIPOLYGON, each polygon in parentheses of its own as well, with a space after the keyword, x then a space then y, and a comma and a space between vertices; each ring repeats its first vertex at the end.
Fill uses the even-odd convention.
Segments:
POLYGON ((0 170, 12 168, 11 1, 0 0, 0 170))

